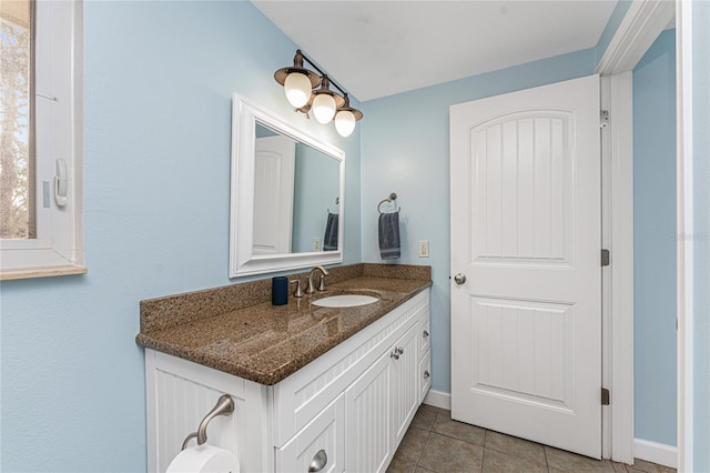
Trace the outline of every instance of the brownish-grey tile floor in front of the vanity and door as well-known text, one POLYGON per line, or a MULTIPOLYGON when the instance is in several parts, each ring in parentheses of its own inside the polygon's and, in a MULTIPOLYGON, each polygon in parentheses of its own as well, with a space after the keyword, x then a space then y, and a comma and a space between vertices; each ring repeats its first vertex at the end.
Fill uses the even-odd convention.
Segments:
POLYGON ((388 473, 670 473, 637 460, 633 466, 586 456, 453 421, 450 411, 422 404, 388 473))

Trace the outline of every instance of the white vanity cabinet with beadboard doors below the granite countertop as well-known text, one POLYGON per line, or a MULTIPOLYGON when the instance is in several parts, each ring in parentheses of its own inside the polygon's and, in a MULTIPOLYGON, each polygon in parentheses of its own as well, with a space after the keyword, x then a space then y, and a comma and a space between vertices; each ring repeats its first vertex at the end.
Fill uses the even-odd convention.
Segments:
POLYGON ((425 290, 272 386, 146 349, 149 471, 230 394, 207 442, 242 472, 384 472, 430 385, 428 326, 425 290))

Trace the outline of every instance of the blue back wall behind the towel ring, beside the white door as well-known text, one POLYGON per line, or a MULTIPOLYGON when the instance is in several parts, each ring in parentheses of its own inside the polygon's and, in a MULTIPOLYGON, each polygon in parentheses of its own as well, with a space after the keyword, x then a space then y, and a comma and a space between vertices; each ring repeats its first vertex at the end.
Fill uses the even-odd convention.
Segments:
POLYGON ((397 263, 432 265, 434 390, 450 392, 449 107, 589 76, 595 66, 589 49, 363 103, 363 259, 382 262, 377 203, 396 192, 402 207, 397 263), (418 258, 419 240, 429 241, 430 258, 418 258))

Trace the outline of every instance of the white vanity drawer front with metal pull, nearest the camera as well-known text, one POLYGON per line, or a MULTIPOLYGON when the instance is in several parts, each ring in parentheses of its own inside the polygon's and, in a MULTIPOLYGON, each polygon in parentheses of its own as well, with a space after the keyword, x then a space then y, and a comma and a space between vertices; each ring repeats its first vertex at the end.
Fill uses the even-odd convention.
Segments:
POLYGON ((344 401, 341 394, 284 446, 276 449, 277 472, 343 472, 344 401))

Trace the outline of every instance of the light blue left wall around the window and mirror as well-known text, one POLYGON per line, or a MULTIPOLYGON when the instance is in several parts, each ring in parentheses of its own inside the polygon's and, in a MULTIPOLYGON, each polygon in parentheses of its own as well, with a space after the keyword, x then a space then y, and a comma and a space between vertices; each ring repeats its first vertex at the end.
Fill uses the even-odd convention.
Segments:
POLYGON ((6 472, 145 471, 139 301, 237 282, 233 92, 345 150, 345 262, 362 260, 359 131, 293 113, 273 73, 296 47, 250 2, 85 2, 84 46, 89 274, 2 282, 6 472))

